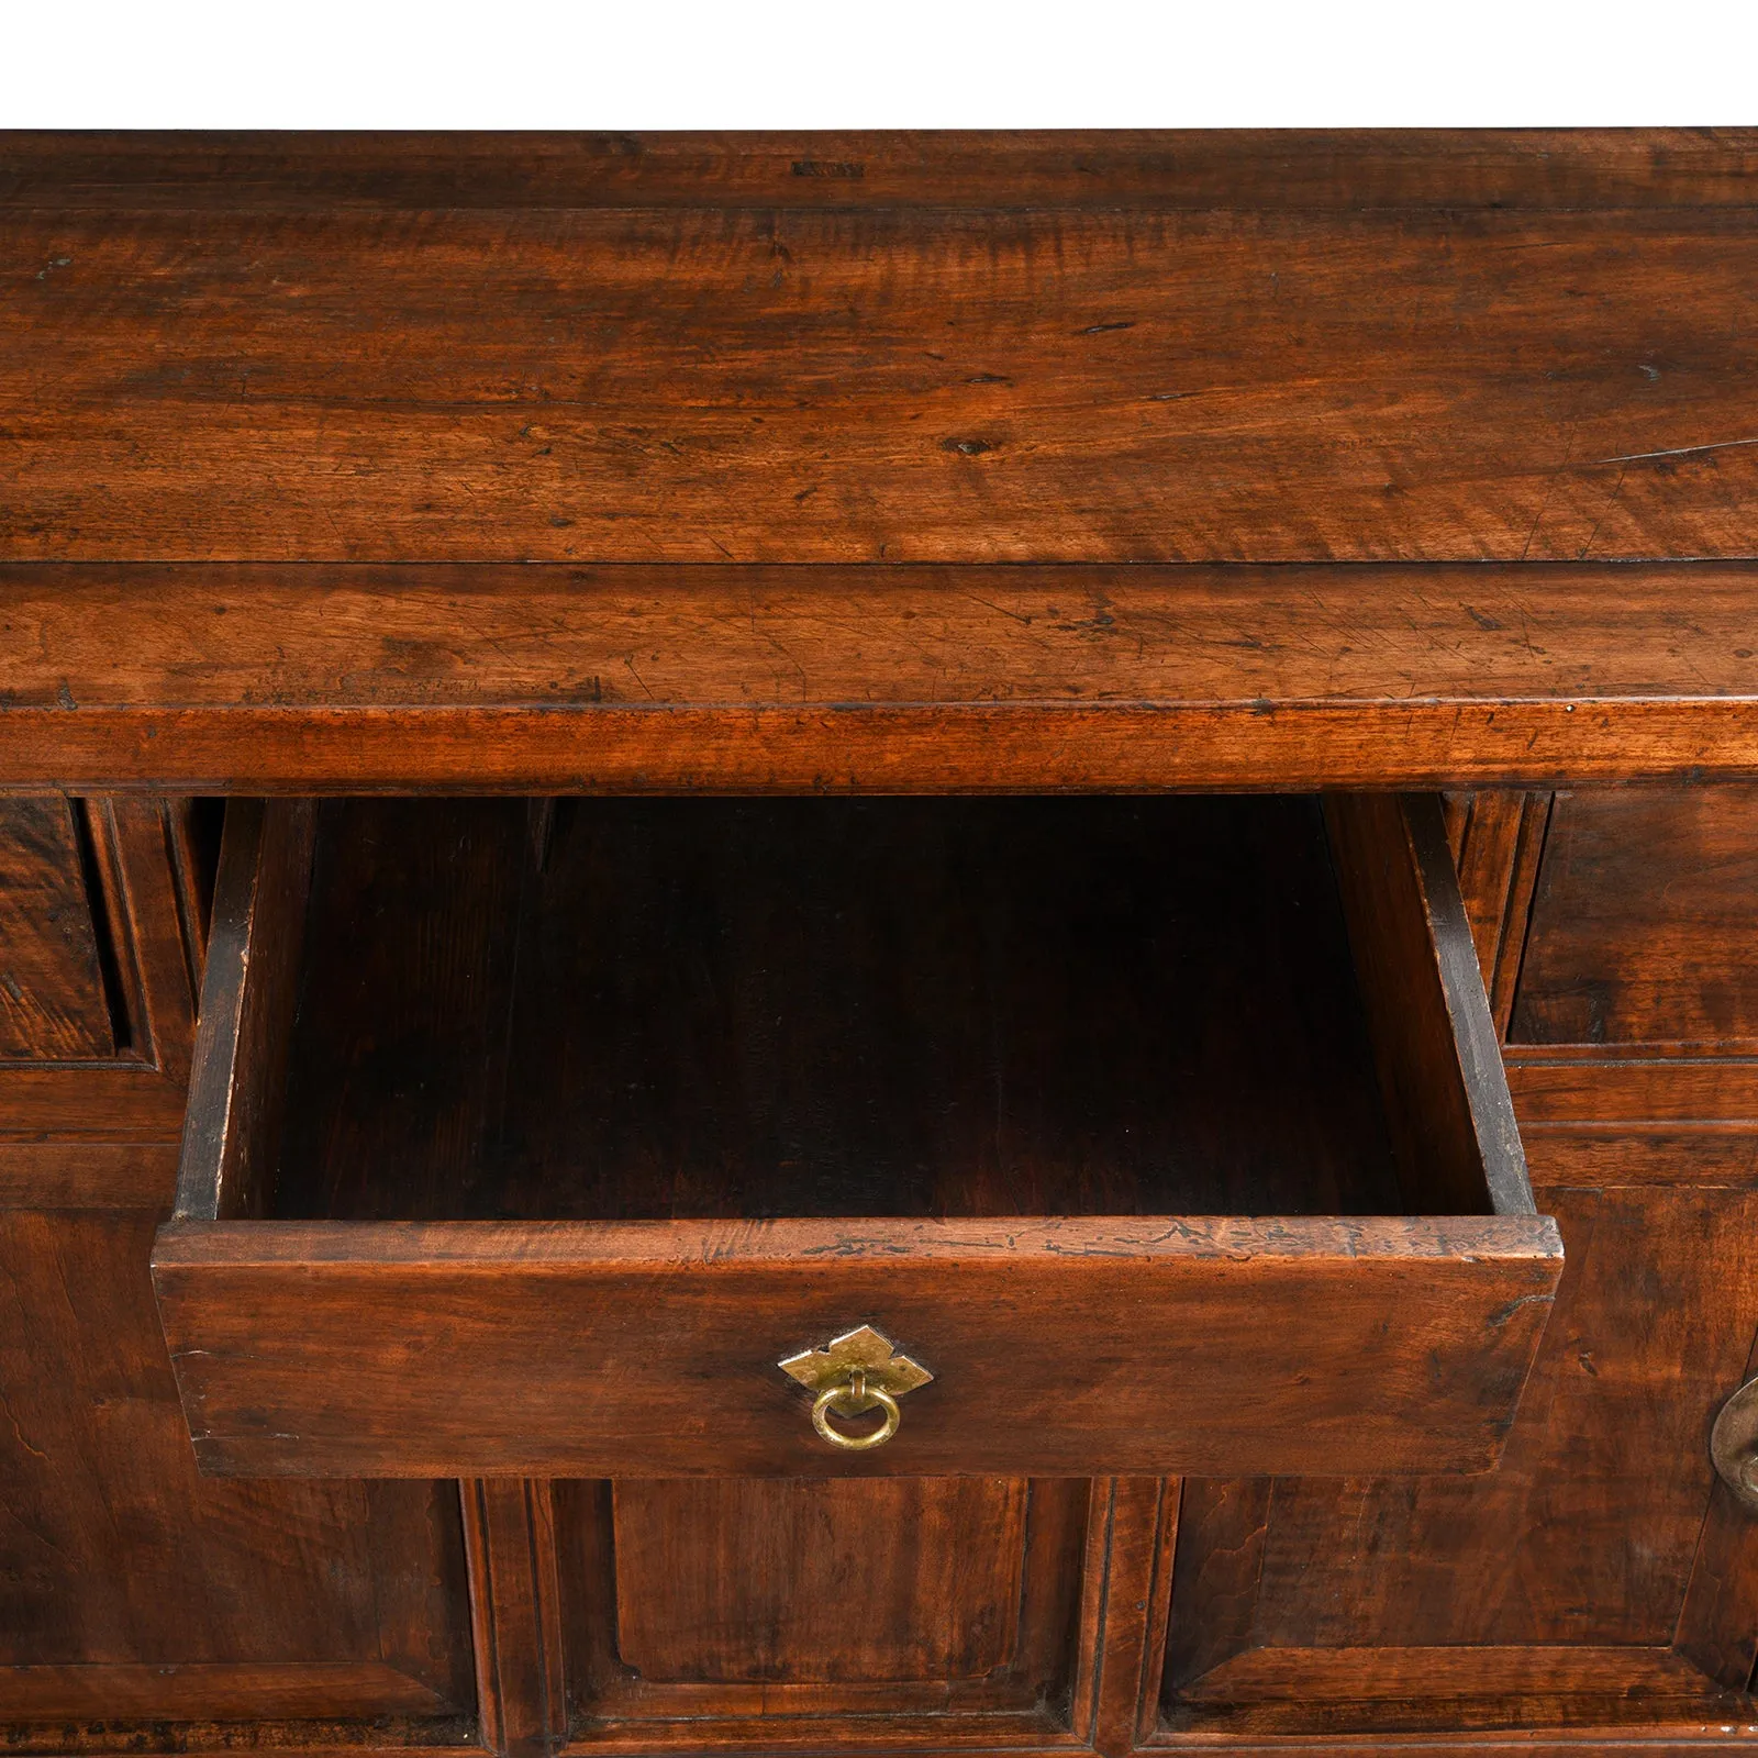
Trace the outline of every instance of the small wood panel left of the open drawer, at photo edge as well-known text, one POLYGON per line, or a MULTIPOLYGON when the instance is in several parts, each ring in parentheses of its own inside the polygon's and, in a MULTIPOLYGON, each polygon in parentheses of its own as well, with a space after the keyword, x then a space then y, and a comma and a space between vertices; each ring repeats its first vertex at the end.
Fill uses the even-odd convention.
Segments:
POLYGON ((0 1062, 116 1050, 72 802, 0 800, 0 1062))

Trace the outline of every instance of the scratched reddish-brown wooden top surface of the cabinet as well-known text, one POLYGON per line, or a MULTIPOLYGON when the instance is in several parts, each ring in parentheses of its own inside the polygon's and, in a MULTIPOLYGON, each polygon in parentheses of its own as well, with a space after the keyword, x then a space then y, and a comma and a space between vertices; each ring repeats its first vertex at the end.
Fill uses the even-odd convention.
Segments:
MULTIPOLYGON (((269 708, 879 701, 1610 701, 1602 770, 1744 770, 1754 190, 1758 130, 0 135, 0 610, 25 635, 0 659, 0 784, 348 779, 339 747, 260 761, 269 708), (527 594, 510 564, 529 563, 561 566, 527 594), (1487 612, 1470 568, 1438 568, 1486 563, 1487 612), (770 628, 793 564, 860 570, 858 603, 812 573, 823 614, 770 628), (898 564, 905 598, 992 607, 1018 564, 1067 570, 1050 598, 1102 612, 1127 570, 1151 615, 1132 656, 1109 612, 1083 612, 1085 659, 1004 612, 951 626, 969 607, 925 640, 923 607, 867 601, 898 564), (1324 578, 1280 591, 1268 564, 1324 578), (605 568, 628 570, 610 621, 575 589, 605 568), (290 619, 276 659, 192 633, 214 592, 248 617, 257 580, 290 619), (693 672, 672 693, 649 672, 677 665, 624 628, 636 580, 693 672), (336 592, 366 615, 346 654, 336 592), (1224 626, 1217 594, 1238 607, 1224 626), (522 629, 512 659, 527 598, 559 605, 556 642, 522 629), (1528 638, 1558 617, 1561 647, 1528 638), (744 652, 759 628, 768 666, 744 652), (1656 703, 1691 708, 1660 745, 1638 731, 1656 703), (220 710, 257 719, 121 765, 120 735, 72 737, 81 710, 135 745, 148 712, 214 737, 220 710)), ((1514 777, 1591 754, 1568 730, 1522 758, 1529 731, 1505 719, 1419 759, 1357 724, 1354 756, 1287 752, 1257 777, 1055 774, 1023 752, 1011 779, 962 774, 1514 777)), ((684 784, 673 733, 592 775, 684 784)), ((469 777, 461 756, 404 761, 410 738, 353 779, 469 777)), ((819 744, 707 784, 875 782, 819 744)), ((561 766, 591 768, 578 749, 561 766)), ((891 781, 946 782, 911 777, 891 781)), ((520 779, 564 777, 483 772, 520 779)))

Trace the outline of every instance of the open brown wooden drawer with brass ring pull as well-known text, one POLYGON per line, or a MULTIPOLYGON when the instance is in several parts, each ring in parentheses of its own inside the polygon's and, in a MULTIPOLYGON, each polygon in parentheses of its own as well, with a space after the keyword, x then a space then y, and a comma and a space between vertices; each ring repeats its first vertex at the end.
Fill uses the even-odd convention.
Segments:
POLYGON ((230 807, 207 1471, 1484 1470, 1559 1271, 1433 796, 230 807))

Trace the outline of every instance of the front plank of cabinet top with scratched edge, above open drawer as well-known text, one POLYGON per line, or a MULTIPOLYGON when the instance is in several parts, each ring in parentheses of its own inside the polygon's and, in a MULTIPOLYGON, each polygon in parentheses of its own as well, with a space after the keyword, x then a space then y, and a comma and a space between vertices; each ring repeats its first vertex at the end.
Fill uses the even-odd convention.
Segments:
POLYGON ((0 782, 888 791, 1751 772, 1754 594, 1758 570, 1739 564, 0 566, 19 635, 0 663, 0 782))

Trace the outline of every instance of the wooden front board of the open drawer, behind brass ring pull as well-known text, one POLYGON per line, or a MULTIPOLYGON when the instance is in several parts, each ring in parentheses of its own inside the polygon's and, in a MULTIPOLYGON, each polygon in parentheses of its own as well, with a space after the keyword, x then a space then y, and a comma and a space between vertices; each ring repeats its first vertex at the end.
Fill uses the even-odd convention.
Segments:
POLYGON ((1482 1470, 1559 1271, 1538 1217, 185 1222, 155 1260, 202 1466, 366 1477, 1482 1470), (861 1324, 933 1378, 851 1452, 779 1362, 861 1324))

